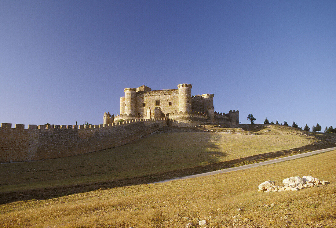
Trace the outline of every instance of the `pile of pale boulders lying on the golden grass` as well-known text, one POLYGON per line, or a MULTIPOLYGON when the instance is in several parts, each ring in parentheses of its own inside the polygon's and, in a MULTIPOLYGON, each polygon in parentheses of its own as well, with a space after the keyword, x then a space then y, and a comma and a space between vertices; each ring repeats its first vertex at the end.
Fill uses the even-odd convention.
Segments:
POLYGON ((318 185, 330 184, 329 181, 320 181, 312 176, 290 177, 282 180, 284 186, 275 185, 274 181, 265 181, 259 184, 259 192, 298 191, 318 185))

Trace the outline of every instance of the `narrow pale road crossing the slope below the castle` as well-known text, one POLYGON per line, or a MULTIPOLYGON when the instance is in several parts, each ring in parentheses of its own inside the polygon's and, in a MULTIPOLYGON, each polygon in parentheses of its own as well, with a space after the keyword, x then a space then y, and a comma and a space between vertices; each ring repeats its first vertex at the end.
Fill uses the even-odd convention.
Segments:
POLYGON ((285 162, 285 161, 293 160, 293 159, 296 159, 296 158, 306 157, 306 156, 310 156, 310 155, 313 155, 313 154, 323 153, 323 152, 327 152, 327 151, 331 151, 331 150, 336 150, 336 147, 331 147, 331 148, 322 149, 322 150, 314 150, 314 151, 310 151, 310 152, 306 152, 306 153, 295 154, 295 155, 291 155, 291 156, 288 156, 288 157, 281 157, 281 158, 277 158, 277 159, 273 159, 273 160, 269 160, 269 161, 265 161, 265 162, 258 162, 258 163, 249 164, 249 165, 245 165, 245 166, 238 166, 238 167, 233 167, 233 168, 228 168, 228 169, 216 170, 216 171, 212 171, 212 172, 200 173, 200 174, 190 175, 190 176, 185 176, 185 177, 177 177, 177 178, 173 178, 173 179, 169 179, 169 180, 153 182, 151 184, 164 183, 164 182, 167 182, 167 181, 174 181, 174 180, 183 180, 183 179, 189 179, 189 178, 195 178, 195 177, 203 177, 203 176, 215 175, 215 174, 219 174, 219 173, 227 173, 227 172, 237 171, 237 170, 245 170, 245 169, 250 169, 250 168, 253 168, 253 167, 265 166, 265 165, 279 163, 279 162, 285 162))

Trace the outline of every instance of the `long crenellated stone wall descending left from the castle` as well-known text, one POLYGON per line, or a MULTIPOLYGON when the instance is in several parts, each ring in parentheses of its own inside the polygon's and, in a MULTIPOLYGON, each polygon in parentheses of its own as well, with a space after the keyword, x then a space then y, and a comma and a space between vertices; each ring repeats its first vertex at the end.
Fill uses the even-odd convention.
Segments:
POLYGON ((0 163, 67 157, 121 146, 166 126, 168 118, 137 119, 100 125, 2 123, 0 163))

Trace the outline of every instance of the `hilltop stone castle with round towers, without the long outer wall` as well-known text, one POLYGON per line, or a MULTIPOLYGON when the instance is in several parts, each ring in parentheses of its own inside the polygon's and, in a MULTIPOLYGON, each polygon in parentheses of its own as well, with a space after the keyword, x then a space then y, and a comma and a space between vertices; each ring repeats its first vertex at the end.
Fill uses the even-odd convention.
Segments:
POLYGON ((202 123, 239 124, 239 111, 217 113, 213 105, 214 95, 206 93, 192 96, 191 84, 179 84, 177 89, 152 90, 142 85, 125 88, 120 97, 120 115, 105 112, 104 124, 126 120, 167 117, 170 120, 197 125, 202 123))

